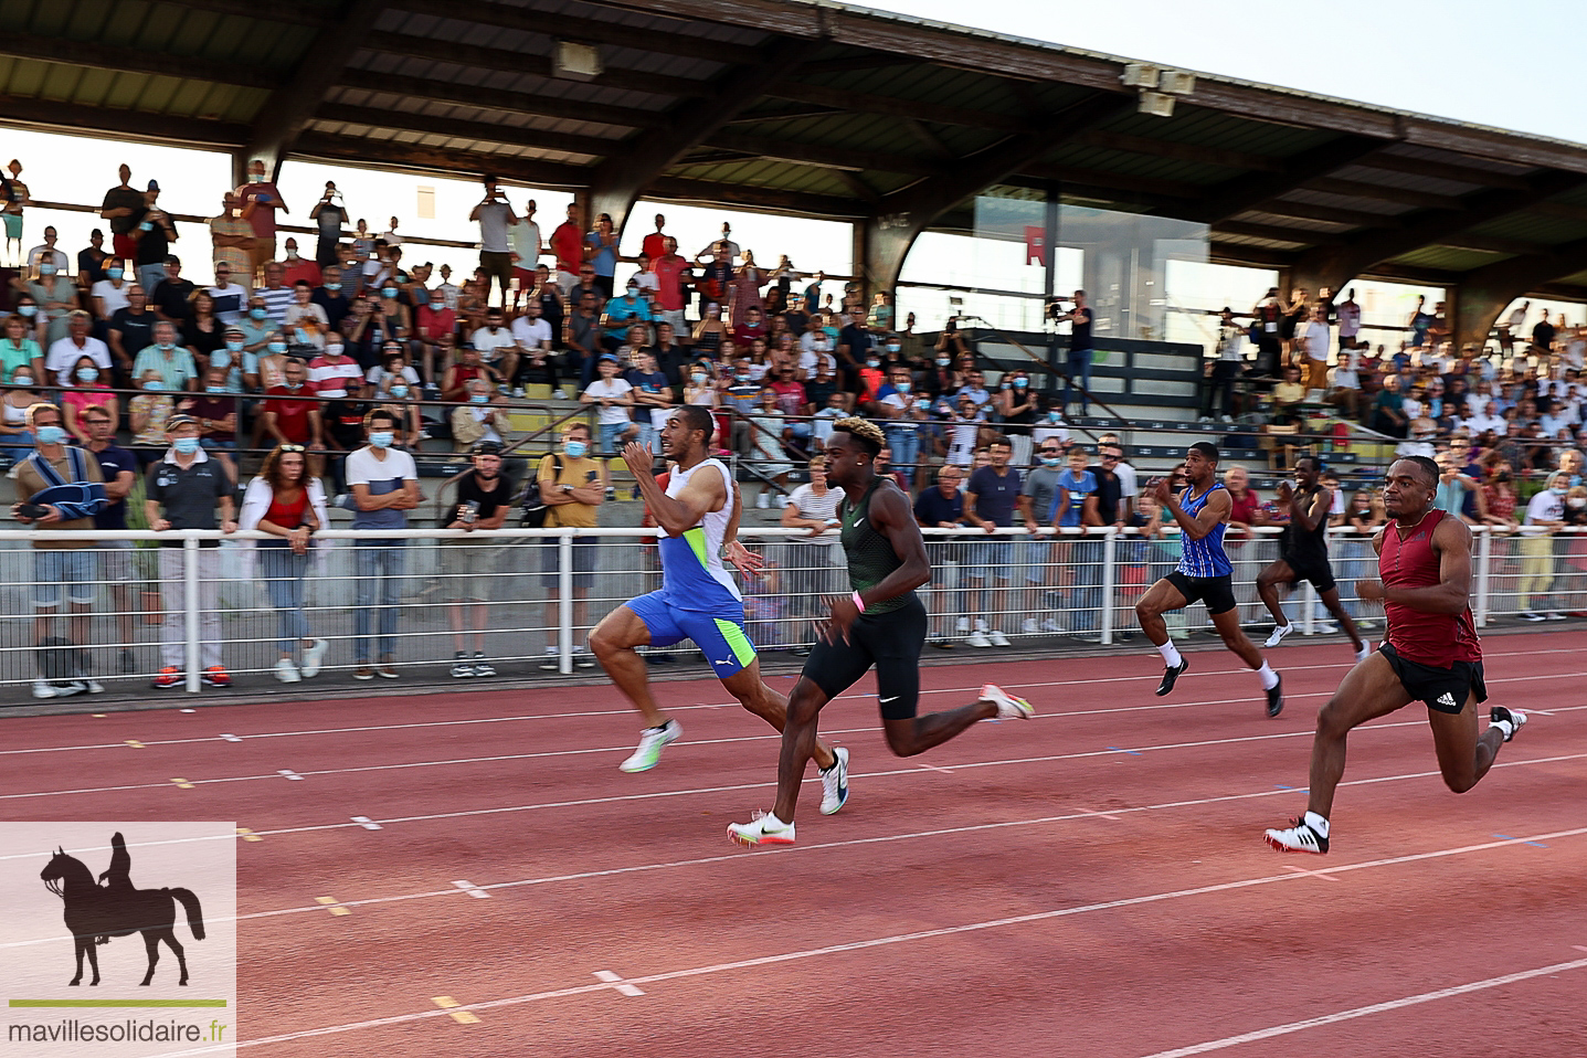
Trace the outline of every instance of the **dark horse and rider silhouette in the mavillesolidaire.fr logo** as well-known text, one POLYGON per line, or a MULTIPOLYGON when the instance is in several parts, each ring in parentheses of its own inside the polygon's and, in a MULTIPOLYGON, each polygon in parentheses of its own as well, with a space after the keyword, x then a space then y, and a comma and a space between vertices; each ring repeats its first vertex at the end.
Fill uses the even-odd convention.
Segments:
POLYGON ((160 941, 176 953, 183 977, 178 985, 187 983, 187 958, 183 945, 176 941, 173 926, 176 925, 176 901, 187 909, 187 925, 194 931, 194 939, 203 941, 203 912, 198 909, 198 898, 184 888, 133 888, 132 857, 127 853, 127 841, 121 831, 110 839, 110 869, 100 874, 100 882, 94 880, 81 860, 68 857, 65 849, 57 847, 49 864, 38 872, 44 888, 65 901, 67 930, 76 942, 78 976, 68 983, 83 983, 83 956, 89 956, 94 968, 94 980, 98 983, 98 953, 95 944, 110 944, 111 937, 125 937, 133 933, 143 934, 143 945, 149 950, 149 972, 143 976, 144 985, 154 980, 154 964, 160 961, 160 941))

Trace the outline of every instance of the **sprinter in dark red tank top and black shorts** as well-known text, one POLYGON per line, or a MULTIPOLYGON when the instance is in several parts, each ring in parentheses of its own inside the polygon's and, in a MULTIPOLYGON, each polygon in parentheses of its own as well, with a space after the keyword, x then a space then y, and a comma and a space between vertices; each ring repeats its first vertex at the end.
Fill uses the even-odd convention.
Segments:
POLYGON ((1465 793, 1498 757, 1498 747, 1527 722, 1520 709, 1495 706, 1477 734, 1477 703, 1487 700, 1482 647, 1471 623, 1471 530, 1433 508, 1438 465, 1422 455, 1397 460, 1384 482, 1390 522, 1373 539, 1379 581, 1357 581, 1363 600, 1382 600, 1389 633, 1378 654, 1360 661, 1317 714, 1311 746, 1306 814, 1266 831, 1279 852, 1328 852, 1328 814, 1344 776, 1351 730, 1401 709, 1427 704, 1444 784, 1465 793))

